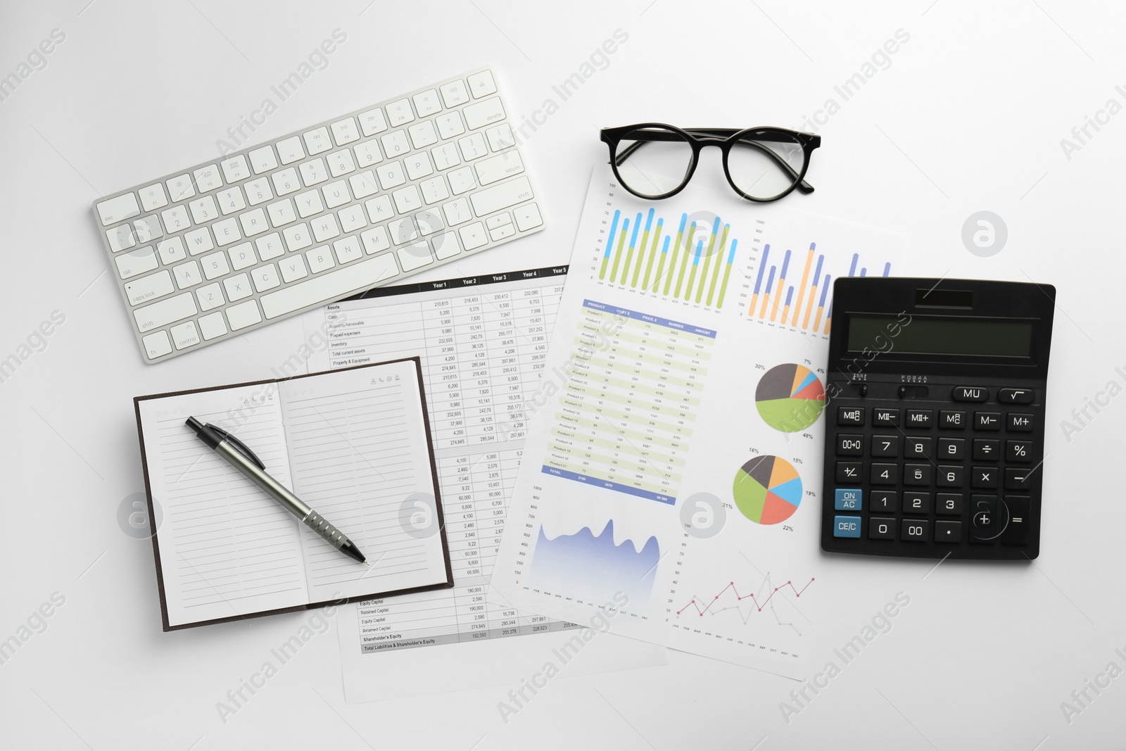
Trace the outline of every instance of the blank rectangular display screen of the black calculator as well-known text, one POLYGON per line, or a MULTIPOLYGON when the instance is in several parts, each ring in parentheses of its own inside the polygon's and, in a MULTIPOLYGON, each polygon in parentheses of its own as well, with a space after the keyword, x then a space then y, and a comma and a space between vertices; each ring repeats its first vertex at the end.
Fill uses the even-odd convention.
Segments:
POLYGON ((886 347, 888 340, 893 342, 890 351, 905 355, 1031 357, 1033 324, 923 315, 912 315, 909 322, 895 315, 849 316, 849 351, 881 349, 879 342, 886 347))

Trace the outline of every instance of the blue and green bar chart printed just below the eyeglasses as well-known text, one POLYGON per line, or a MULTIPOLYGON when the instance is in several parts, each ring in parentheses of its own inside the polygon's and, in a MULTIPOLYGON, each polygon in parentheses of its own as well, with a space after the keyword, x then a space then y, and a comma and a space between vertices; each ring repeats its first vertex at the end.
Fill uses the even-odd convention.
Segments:
POLYGON ((654 208, 632 216, 615 209, 598 279, 720 310, 738 248, 718 216, 707 224, 681 214, 673 232, 654 208))

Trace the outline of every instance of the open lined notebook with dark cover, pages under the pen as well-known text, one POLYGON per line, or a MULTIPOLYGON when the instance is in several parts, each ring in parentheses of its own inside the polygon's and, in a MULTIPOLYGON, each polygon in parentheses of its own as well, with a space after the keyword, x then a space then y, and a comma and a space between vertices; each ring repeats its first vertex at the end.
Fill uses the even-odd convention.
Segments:
POLYGON ((164 631, 453 587, 421 378, 413 357, 137 396, 164 631), (189 415, 242 440, 372 565, 207 448, 189 415))

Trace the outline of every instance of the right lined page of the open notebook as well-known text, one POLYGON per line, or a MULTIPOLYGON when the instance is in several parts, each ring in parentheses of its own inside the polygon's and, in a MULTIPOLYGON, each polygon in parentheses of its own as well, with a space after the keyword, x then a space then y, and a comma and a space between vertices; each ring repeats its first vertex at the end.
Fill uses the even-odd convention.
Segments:
POLYGON ((408 497, 435 497, 414 363, 294 378, 280 390, 294 492, 372 562, 357 564, 302 527, 311 601, 446 582, 437 524, 421 538, 401 524, 408 497))

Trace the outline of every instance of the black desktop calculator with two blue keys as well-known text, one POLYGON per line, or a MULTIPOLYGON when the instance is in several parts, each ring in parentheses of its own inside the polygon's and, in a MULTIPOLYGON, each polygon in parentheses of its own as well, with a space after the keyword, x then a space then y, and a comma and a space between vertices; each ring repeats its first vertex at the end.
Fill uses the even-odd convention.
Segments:
POLYGON ((837 279, 821 547, 1035 558, 1055 287, 837 279))

